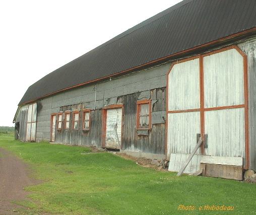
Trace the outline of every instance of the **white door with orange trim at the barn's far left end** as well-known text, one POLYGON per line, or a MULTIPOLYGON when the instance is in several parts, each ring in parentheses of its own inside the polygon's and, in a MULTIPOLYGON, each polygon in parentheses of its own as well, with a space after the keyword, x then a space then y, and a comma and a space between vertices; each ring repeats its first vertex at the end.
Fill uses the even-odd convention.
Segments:
POLYGON ((36 113, 37 105, 36 103, 29 105, 28 107, 28 120, 27 120, 27 141, 36 140, 36 113))

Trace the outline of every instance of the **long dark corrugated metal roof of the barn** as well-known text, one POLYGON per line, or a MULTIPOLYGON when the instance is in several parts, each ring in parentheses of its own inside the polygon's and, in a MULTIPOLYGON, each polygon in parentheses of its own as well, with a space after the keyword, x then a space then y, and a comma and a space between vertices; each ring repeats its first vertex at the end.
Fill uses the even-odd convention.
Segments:
POLYGON ((31 85, 19 104, 256 26, 255 0, 185 0, 31 85))

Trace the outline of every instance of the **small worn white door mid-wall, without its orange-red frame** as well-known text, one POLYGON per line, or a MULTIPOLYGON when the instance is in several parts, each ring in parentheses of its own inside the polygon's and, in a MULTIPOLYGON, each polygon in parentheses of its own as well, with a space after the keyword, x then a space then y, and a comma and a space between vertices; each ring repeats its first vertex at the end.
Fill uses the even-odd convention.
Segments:
POLYGON ((105 147, 120 149, 122 131, 122 108, 107 109, 105 147))

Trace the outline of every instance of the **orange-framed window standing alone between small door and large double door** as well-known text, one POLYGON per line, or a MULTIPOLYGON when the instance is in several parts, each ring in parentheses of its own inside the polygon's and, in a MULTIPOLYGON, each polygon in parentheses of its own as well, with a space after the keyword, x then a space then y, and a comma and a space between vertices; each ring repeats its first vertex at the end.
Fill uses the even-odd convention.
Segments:
POLYGON ((150 129, 151 126, 151 100, 137 102, 137 129, 150 129))

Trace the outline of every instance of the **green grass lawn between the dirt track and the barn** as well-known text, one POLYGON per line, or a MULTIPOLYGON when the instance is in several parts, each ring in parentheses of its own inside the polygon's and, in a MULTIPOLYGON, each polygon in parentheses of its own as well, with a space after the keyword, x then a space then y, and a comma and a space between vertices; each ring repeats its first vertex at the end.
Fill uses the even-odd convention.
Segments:
POLYGON ((254 214, 256 184, 210 177, 181 176, 144 168, 111 153, 89 148, 24 143, 0 135, 0 147, 30 164, 43 183, 26 187, 26 214, 254 214), (194 205, 195 210, 178 210, 194 205), (199 210, 204 205, 233 211, 199 210))

